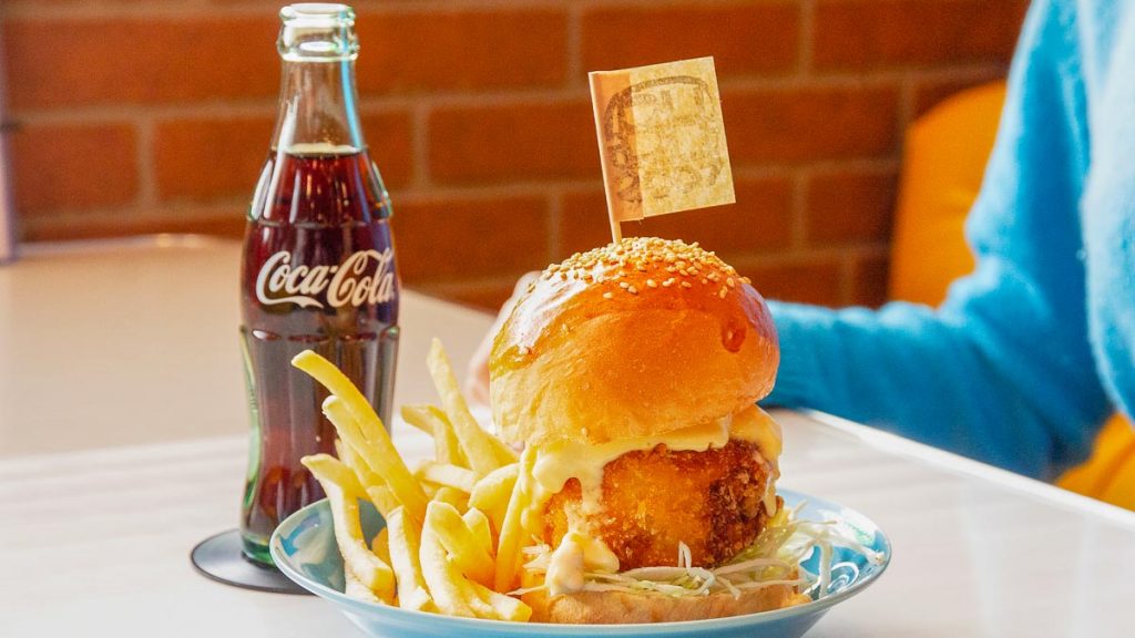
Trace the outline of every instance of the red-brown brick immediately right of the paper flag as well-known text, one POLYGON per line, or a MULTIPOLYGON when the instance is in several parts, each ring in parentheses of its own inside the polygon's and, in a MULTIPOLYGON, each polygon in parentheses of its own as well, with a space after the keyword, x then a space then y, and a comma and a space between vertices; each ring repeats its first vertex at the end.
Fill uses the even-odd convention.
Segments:
POLYGON ((734 165, 891 157, 899 145, 892 86, 726 91, 734 165))

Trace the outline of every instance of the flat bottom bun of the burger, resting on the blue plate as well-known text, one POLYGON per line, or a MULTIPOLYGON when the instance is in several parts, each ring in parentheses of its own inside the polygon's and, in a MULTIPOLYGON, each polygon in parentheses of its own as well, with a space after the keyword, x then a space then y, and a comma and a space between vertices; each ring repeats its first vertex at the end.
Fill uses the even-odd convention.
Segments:
POLYGON ((706 596, 675 597, 665 594, 623 591, 577 591, 548 596, 547 590, 524 594, 535 622, 564 624, 632 624, 678 622, 743 615, 810 602, 789 585, 772 585, 742 591, 737 598, 729 591, 706 596))

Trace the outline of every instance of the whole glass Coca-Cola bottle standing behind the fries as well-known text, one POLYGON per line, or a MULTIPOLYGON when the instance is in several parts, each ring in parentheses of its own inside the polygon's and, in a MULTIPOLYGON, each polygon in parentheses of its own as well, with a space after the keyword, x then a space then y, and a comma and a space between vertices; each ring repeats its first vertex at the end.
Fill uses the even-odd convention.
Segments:
POLYGON ((300 459, 334 453, 327 393, 291 360, 335 362, 389 422, 398 343, 390 202, 359 126, 354 11, 280 10, 276 129, 245 229, 241 343, 251 440, 241 538, 270 564, 279 521, 322 498, 300 459))

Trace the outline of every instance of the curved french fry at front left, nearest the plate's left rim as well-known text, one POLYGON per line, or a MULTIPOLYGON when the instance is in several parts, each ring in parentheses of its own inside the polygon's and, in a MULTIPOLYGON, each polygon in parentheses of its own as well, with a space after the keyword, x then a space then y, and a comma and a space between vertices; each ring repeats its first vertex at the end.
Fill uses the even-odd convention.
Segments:
POLYGON ((382 562, 362 535, 359 519, 359 479, 350 468, 328 454, 304 456, 303 464, 319 480, 327 493, 331 510, 335 542, 343 555, 344 571, 351 572, 363 587, 382 601, 394 599, 394 572, 382 562))

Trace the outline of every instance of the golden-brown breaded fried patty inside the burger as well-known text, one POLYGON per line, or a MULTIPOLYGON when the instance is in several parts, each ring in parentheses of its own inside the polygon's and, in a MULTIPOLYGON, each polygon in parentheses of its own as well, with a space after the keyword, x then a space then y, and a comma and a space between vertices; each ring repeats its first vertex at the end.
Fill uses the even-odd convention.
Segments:
POLYGON ((604 469, 597 513, 581 513, 575 479, 548 501, 544 542, 557 547, 569 521, 577 521, 577 529, 606 543, 621 570, 674 565, 680 542, 695 566, 714 566, 764 529, 771 513, 763 500, 773 471, 756 444, 737 439, 705 452, 672 452, 665 445, 631 452, 604 469))

